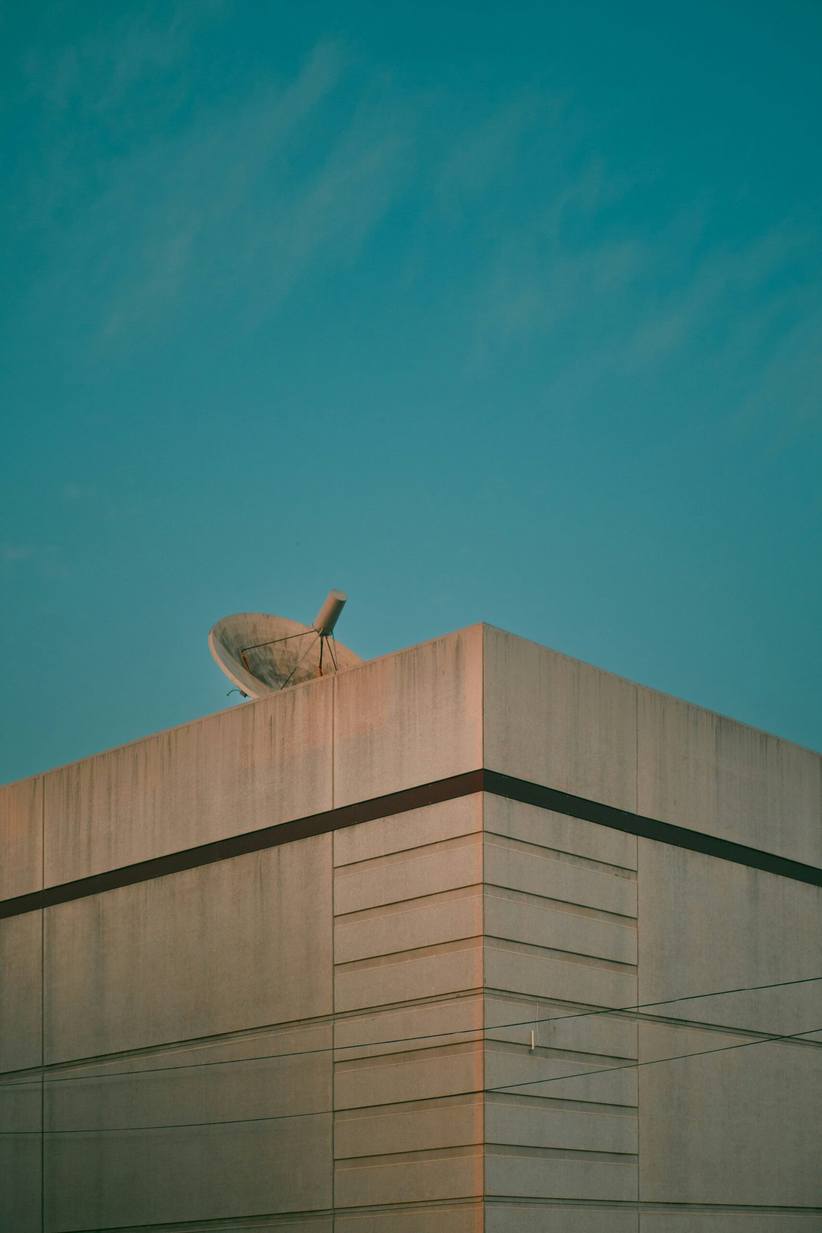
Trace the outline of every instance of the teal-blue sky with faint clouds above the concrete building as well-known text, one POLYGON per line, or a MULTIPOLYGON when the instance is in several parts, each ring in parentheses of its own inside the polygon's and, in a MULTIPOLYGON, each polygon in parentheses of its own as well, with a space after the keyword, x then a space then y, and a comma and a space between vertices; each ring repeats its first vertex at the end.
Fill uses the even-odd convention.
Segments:
POLYGON ((329 587, 822 747, 818 5, 0 21, 0 779, 329 587))

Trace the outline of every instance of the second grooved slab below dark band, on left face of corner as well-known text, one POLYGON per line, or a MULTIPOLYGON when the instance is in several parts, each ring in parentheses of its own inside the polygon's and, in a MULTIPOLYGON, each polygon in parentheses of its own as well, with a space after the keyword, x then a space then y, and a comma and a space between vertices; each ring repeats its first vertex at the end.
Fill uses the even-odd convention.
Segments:
POLYGON ((334 873, 334 911, 338 916, 435 895, 482 882, 482 835, 430 843, 349 864, 334 873))

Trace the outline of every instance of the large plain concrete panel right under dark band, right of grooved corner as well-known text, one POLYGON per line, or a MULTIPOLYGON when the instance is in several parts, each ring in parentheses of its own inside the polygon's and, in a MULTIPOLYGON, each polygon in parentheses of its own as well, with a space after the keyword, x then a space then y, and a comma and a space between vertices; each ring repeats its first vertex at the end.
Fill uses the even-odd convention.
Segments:
MULTIPOLYGON (((822 974, 822 888, 640 841, 643 1005, 822 974)), ((822 980, 677 1001, 680 1020, 783 1033, 822 1025, 822 980)))

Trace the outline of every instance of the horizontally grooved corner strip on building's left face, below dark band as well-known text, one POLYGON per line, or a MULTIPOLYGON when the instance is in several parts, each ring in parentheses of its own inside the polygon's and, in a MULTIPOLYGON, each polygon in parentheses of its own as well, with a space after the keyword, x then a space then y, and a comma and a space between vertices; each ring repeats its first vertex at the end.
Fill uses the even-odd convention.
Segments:
POLYGON ((479 1229, 479 794, 334 835, 334 978, 336 1227, 479 1229))

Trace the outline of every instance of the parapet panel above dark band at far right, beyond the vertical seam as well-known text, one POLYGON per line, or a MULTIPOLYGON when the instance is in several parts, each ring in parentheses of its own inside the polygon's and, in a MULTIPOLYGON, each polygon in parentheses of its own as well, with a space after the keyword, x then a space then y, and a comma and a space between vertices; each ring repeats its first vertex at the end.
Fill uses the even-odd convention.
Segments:
POLYGON ((638 689, 638 813, 822 864, 822 757, 638 689))

